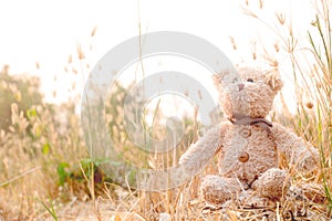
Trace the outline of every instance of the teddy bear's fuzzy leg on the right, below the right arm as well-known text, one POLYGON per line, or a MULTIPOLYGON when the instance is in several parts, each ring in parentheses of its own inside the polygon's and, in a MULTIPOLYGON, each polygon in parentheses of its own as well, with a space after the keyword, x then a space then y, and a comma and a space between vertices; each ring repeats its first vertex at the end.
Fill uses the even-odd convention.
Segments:
POLYGON ((278 168, 267 170, 252 185, 252 189, 257 190, 260 196, 277 200, 287 193, 289 187, 290 180, 287 179, 287 171, 278 168))

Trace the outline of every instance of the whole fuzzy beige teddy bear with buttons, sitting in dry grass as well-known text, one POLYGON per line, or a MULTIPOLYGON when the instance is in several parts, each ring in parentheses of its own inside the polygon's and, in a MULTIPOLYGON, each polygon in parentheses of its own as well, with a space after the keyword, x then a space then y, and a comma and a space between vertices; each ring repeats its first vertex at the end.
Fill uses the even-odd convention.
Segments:
POLYGON ((214 83, 227 119, 193 144, 179 165, 188 176, 195 176, 218 156, 219 175, 207 175, 200 185, 208 203, 222 204, 246 191, 271 201, 280 200, 291 180, 288 171, 279 167, 280 156, 290 167, 309 171, 318 167, 319 152, 267 118, 283 86, 279 72, 225 71, 214 75, 214 83))

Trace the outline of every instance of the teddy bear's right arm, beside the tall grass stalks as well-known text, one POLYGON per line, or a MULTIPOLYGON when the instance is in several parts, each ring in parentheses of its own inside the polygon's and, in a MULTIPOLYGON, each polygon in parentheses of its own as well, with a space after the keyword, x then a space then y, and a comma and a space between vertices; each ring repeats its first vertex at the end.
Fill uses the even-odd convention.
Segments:
POLYGON ((310 144, 276 123, 273 123, 271 133, 278 150, 286 155, 290 167, 295 165, 300 171, 313 170, 318 167, 319 151, 310 144))

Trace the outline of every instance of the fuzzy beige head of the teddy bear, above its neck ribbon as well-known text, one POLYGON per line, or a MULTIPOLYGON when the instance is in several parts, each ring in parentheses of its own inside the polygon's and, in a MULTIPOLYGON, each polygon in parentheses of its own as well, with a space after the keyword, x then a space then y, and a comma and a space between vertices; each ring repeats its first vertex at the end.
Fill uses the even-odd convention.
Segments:
POLYGON ((282 87, 278 71, 240 69, 214 75, 219 104, 228 118, 264 118, 282 87))

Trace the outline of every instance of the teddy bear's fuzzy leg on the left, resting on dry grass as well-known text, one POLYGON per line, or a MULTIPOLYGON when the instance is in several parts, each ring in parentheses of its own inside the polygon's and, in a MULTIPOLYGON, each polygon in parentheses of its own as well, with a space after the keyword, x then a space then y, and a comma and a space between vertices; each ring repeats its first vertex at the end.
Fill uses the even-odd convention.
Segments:
POLYGON ((241 191, 236 179, 208 175, 200 186, 204 199, 212 204, 221 204, 241 191))

